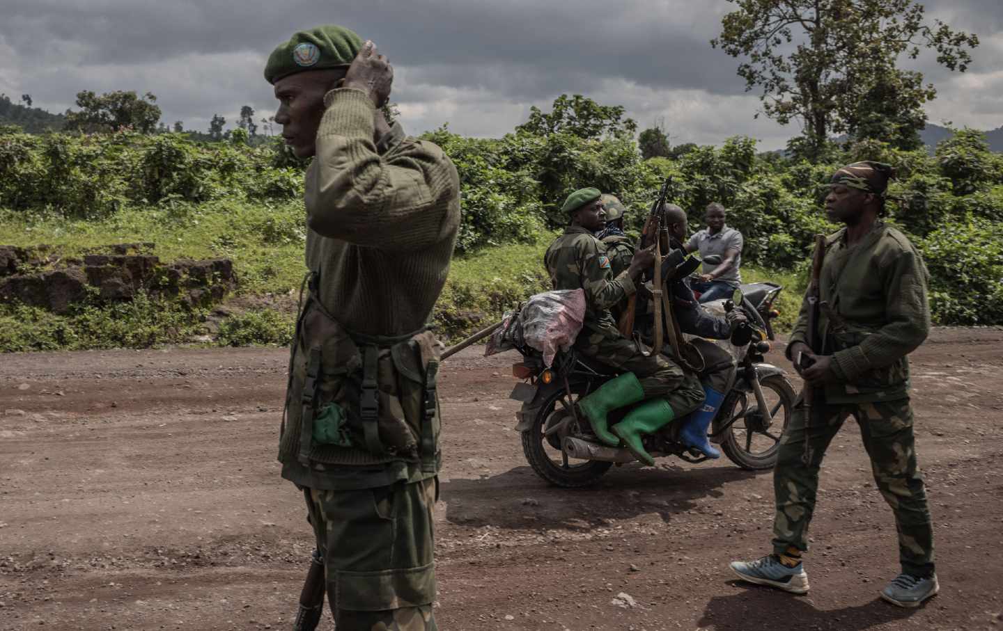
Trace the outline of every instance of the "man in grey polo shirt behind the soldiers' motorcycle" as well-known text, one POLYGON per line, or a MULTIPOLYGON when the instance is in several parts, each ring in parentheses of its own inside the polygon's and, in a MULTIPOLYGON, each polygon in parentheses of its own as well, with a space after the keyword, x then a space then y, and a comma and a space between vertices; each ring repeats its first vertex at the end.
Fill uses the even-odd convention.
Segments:
POLYGON ((707 204, 703 218, 707 227, 691 236, 684 247, 687 252, 699 251, 700 258, 721 257, 716 265, 704 263, 699 280, 691 283, 693 290, 700 292, 700 301, 707 302, 730 297, 741 283, 738 265, 742 260, 742 234, 724 224, 724 206, 716 201, 707 204))

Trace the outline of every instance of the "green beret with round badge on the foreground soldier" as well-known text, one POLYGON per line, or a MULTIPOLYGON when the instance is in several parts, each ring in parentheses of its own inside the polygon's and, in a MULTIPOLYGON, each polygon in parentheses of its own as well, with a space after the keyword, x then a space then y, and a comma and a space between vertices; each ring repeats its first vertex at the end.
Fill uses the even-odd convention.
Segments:
POLYGON ((265 80, 275 83, 297 72, 347 67, 359 54, 362 44, 355 31, 336 24, 300 31, 268 56, 265 80))

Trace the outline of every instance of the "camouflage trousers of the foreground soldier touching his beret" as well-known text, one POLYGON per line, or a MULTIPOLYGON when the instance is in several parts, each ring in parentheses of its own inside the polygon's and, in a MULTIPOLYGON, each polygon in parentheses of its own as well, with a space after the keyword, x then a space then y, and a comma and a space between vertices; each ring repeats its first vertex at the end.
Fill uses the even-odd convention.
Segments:
POLYGON ((435 631, 432 508, 438 480, 303 491, 335 627, 435 631))

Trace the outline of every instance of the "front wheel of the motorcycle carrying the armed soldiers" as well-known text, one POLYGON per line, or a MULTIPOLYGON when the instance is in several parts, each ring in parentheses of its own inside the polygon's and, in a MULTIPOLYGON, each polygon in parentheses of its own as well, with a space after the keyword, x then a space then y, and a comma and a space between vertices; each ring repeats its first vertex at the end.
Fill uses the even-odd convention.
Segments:
POLYGON ((759 385, 773 417, 770 427, 763 427, 763 418, 752 393, 732 391, 722 406, 722 412, 734 422, 723 437, 721 451, 731 462, 748 471, 773 468, 780 451, 780 437, 794 411, 794 389, 785 377, 770 375, 759 385))

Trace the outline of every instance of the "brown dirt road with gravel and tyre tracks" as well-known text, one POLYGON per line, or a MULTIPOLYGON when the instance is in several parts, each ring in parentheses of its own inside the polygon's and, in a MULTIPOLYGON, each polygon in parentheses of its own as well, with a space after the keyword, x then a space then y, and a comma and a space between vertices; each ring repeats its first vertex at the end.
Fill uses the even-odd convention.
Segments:
MULTIPOLYGON (((1003 330, 938 330, 914 355, 942 593, 912 612, 877 599, 895 525, 855 425, 823 466, 812 592, 791 597, 727 571, 767 550, 768 473, 663 461, 550 488, 513 431, 511 361, 445 368, 440 628, 1003 628, 1003 330)), ((285 362, 0 356, 0 629, 288 628, 313 546, 274 458, 285 362)))

